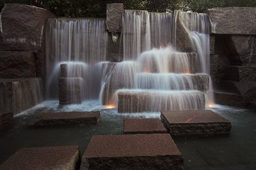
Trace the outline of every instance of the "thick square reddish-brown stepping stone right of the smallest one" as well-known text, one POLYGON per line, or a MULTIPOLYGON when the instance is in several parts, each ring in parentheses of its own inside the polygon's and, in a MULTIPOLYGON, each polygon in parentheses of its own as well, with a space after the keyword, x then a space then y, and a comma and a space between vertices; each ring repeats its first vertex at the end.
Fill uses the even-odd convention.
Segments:
POLYGON ((161 120, 172 136, 229 134, 231 122, 211 110, 161 111, 161 120))

